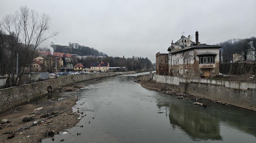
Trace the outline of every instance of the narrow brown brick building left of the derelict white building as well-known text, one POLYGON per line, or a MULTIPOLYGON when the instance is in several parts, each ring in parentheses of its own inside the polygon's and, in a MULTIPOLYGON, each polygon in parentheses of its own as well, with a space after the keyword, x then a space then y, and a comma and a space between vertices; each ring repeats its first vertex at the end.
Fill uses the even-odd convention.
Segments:
POLYGON ((163 54, 158 52, 155 55, 156 61, 155 61, 155 67, 156 67, 156 74, 159 75, 168 75, 169 70, 168 70, 168 56, 169 54, 163 54))

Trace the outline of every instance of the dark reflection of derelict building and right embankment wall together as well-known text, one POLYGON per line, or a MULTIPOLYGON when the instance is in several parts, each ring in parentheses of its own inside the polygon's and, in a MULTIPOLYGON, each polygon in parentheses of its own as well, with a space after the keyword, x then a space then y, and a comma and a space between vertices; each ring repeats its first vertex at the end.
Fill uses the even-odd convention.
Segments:
POLYGON ((218 109, 204 108, 192 106, 187 102, 158 101, 157 107, 169 107, 169 119, 173 130, 182 129, 194 141, 222 140, 221 123, 256 136, 256 113, 252 111, 237 107, 227 110, 224 105, 217 105, 218 109))

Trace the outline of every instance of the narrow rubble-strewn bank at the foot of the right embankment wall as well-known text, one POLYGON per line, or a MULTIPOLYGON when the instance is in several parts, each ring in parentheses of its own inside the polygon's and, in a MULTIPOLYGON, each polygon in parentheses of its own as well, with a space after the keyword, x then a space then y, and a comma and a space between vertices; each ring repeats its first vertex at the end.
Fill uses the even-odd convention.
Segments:
MULTIPOLYGON (((144 88, 163 92, 165 94, 175 96, 176 98, 181 99, 181 100, 191 100, 193 102, 200 102, 200 103, 216 102, 219 104, 228 105, 226 103, 222 103, 217 100, 206 99, 204 97, 195 96, 195 95, 181 92, 179 90, 172 89, 172 87, 168 84, 163 84, 160 82, 156 82, 152 79, 149 79, 149 74, 139 75, 139 76, 135 77, 135 82, 141 84, 141 86, 144 88)), ((228 105, 228 106, 231 106, 231 105, 228 105)))

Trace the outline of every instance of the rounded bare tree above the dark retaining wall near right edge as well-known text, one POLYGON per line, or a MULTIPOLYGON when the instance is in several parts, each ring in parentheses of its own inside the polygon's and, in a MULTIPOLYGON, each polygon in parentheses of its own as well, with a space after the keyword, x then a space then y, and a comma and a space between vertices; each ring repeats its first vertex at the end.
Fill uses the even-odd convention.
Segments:
POLYGON ((249 52, 249 49, 251 48, 251 44, 250 44, 250 39, 241 39, 239 41, 239 49, 242 53, 242 56, 243 56, 243 61, 246 61, 247 60, 247 55, 248 55, 248 52, 249 52))

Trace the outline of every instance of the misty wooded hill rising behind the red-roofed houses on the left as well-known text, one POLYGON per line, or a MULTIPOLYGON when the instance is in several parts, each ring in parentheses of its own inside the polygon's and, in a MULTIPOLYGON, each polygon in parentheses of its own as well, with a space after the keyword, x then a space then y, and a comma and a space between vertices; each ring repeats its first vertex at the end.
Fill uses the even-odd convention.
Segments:
POLYGON ((108 56, 107 54, 100 52, 97 49, 83 46, 78 43, 69 42, 69 46, 63 46, 51 42, 50 46, 54 49, 54 52, 78 54, 80 56, 108 56))

